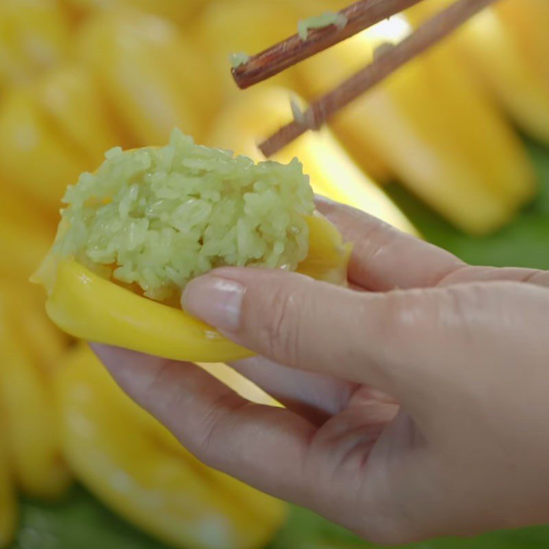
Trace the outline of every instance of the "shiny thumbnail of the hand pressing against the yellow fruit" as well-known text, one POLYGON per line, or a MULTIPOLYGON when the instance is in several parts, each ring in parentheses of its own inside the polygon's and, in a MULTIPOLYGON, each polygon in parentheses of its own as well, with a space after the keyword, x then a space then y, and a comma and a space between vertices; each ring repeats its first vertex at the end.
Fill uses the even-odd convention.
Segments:
POLYGON ((245 292, 246 287, 238 282, 207 275, 187 284, 181 305, 215 328, 236 331, 245 292))

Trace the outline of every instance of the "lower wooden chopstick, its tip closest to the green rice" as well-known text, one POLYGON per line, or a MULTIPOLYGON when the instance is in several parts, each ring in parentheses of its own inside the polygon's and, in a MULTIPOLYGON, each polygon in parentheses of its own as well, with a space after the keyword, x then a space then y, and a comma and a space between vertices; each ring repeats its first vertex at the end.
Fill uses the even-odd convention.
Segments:
POLYGON ((362 71, 353 75, 333 91, 313 102, 309 108, 290 124, 259 145, 267 157, 303 135, 307 130, 318 130, 338 110, 347 106, 362 93, 382 82, 406 62, 434 46, 454 32, 472 16, 487 8, 496 0, 457 0, 442 12, 417 27, 397 45, 386 48, 362 71))

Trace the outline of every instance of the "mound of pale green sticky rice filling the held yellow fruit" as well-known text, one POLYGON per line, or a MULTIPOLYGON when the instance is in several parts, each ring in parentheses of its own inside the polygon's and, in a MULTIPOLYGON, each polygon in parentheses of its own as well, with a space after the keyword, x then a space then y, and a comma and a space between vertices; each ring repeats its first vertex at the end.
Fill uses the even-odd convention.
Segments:
POLYGON ((163 148, 110 150, 63 202, 54 251, 159 301, 220 266, 294 270, 314 211, 297 159, 256 165, 179 130, 163 148))

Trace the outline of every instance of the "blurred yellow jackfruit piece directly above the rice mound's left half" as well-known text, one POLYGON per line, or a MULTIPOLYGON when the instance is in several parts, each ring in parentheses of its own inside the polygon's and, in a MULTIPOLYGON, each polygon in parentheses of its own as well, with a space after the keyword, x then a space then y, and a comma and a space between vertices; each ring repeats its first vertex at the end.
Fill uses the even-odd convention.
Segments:
POLYGON ((170 23, 107 10, 86 21, 78 51, 132 146, 165 143, 175 127, 200 138, 202 111, 215 86, 208 85, 200 57, 170 23))

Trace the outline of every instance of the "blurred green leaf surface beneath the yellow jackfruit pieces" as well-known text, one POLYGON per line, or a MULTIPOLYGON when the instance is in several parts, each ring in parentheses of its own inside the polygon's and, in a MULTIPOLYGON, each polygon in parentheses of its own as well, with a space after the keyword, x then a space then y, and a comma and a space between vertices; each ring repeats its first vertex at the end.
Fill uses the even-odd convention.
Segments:
MULTIPOLYGON (((388 192, 423 235, 472 264, 549 269, 549 151, 528 143, 540 180, 539 196, 505 229, 471 238, 452 228, 402 187, 388 192)), ((268 549, 373 548, 314 513, 292 508, 288 523, 268 549)), ((474 539, 412 544, 408 549, 546 549, 549 526, 493 533, 474 539)), ((57 504, 22 502, 21 526, 13 549, 168 549, 119 519, 93 496, 76 487, 57 504)), ((194 549, 194 548, 189 548, 194 549)))

